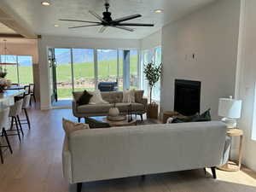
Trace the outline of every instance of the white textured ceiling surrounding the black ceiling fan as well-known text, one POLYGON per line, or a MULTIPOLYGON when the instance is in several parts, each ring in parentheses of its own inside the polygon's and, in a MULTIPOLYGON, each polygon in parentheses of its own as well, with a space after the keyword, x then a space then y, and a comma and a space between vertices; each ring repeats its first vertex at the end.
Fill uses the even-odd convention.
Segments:
POLYGON ((90 38, 143 38, 158 31, 166 23, 188 15, 214 0, 110 0, 113 19, 141 14, 142 18, 131 22, 154 23, 155 26, 133 27, 136 29, 135 32, 108 27, 103 34, 98 32, 101 26, 67 29, 68 26, 76 26, 80 23, 59 21, 59 19, 96 20, 88 10, 94 10, 102 15, 103 0, 51 0, 50 6, 42 6, 40 0, 1 1, 21 20, 25 20, 36 34, 90 38), (155 14, 154 9, 164 9, 164 13, 155 14), (60 27, 55 27, 55 23, 60 27))

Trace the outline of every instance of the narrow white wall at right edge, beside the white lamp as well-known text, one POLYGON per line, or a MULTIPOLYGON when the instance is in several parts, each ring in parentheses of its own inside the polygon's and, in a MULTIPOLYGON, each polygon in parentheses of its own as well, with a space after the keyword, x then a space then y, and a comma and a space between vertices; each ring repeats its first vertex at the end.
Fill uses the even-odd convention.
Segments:
MULTIPOLYGON (((256 83, 256 1, 242 0, 241 60, 237 94, 243 102, 239 127, 244 131, 243 164, 256 171, 256 141, 252 140, 253 102, 256 83)), ((256 109, 254 109, 256 110, 256 109)))

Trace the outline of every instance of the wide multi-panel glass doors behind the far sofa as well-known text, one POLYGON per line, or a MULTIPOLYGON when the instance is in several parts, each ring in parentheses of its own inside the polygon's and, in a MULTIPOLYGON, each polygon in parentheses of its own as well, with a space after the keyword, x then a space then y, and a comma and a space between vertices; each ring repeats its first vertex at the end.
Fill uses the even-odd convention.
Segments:
POLYGON ((99 82, 118 82, 119 90, 124 89, 124 84, 125 89, 138 88, 137 49, 54 50, 55 70, 51 71, 55 72, 52 79, 56 82, 56 90, 52 93, 57 92, 60 100, 72 99, 73 90, 95 90, 99 82))

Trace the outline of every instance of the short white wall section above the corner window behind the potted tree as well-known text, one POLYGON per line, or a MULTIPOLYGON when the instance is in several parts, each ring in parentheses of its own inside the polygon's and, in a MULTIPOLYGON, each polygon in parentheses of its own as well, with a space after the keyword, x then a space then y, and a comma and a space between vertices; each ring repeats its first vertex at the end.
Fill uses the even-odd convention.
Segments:
POLYGON ((152 49, 155 47, 159 47, 161 45, 162 40, 162 31, 159 30, 154 32, 151 35, 148 35, 145 38, 140 40, 141 49, 152 49))

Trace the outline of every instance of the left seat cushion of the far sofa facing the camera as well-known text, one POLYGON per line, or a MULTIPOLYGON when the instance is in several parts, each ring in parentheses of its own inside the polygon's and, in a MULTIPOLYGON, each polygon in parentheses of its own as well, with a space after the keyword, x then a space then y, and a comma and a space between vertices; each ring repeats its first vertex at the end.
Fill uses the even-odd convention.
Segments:
POLYGON ((78 113, 108 113, 112 107, 112 104, 81 105, 78 107, 78 113))

